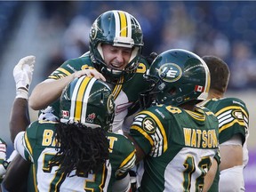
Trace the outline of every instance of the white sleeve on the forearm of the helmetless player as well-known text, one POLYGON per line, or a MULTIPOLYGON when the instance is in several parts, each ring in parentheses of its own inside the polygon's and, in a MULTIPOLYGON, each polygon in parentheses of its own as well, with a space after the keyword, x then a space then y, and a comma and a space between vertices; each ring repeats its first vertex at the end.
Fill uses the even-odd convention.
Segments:
POLYGON ((220 172, 220 192, 241 192, 244 189, 244 165, 234 166, 220 172))

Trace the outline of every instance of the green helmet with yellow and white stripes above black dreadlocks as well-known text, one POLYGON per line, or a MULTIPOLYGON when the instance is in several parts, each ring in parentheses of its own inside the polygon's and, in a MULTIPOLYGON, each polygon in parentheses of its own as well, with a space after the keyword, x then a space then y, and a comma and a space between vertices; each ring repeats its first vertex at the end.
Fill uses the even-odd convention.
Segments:
POLYGON ((60 96, 60 122, 81 123, 111 132, 115 116, 114 97, 108 84, 81 76, 69 83, 60 96))

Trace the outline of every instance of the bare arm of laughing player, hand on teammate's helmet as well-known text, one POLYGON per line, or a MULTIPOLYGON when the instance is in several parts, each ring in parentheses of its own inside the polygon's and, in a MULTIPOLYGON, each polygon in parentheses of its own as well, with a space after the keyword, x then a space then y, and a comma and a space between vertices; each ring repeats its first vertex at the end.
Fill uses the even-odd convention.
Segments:
POLYGON ((58 80, 46 79, 44 82, 37 84, 34 88, 33 92, 28 100, 28 104, 30 108, 34 110, 39 110, 46 108, 53 101, 58 100, 60 98, 62 90, 65 86, 71 82, 76 77, 80 76, 94 76, 97 79, 101 79, 106 81, 105 77, 100 74, 96 69, 88 68, 80 71, 76 71, 75 73, 62 77, 58 80))

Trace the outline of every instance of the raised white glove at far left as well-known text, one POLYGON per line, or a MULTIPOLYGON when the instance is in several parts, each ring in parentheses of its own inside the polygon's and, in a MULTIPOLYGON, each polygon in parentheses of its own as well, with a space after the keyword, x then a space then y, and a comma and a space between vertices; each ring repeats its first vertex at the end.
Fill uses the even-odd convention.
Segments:
POLYGON ((16 83, 16 98, 28 100, 28 89, 32 81, 36 57, 29 55, 22 58, 13 68, 13 77, 16 83))

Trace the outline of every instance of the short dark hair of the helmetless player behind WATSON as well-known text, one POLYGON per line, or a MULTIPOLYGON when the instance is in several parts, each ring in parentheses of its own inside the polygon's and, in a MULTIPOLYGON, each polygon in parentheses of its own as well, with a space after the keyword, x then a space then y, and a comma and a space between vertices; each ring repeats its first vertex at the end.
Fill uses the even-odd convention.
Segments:
POLYGON ((212 55, 205 55, 202 59, 208 66, 211 74, 210 89, 221 93, 226 92, 230 76, 228 64, 224 60, 212 55))

